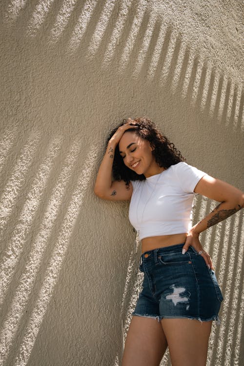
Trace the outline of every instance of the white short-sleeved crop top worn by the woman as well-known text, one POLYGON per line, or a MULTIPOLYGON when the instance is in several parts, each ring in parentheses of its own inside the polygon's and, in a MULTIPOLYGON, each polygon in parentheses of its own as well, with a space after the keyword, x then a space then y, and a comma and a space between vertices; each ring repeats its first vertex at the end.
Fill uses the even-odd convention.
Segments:
POLYGON ((206 173, 181 162, 144 181, 131 181, 129 220, 140 240, 189 232, 194 189, 203 175, 206 173))

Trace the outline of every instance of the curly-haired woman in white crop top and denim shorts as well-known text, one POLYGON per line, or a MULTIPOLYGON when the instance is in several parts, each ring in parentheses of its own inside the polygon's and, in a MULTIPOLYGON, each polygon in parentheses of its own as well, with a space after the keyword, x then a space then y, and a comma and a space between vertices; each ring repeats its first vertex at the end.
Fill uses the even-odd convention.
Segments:
POLYGON ((223 297, 199 234, 244 207, 243 193, 185 163, 145 117, 112 132, 94 192, 131 201, 129 219, 142 242, 144 280, 122 366, 159 365, 167 346, 173 366, 205 365, 223 297), (194 193, 220 204, 191 227, 194 193))

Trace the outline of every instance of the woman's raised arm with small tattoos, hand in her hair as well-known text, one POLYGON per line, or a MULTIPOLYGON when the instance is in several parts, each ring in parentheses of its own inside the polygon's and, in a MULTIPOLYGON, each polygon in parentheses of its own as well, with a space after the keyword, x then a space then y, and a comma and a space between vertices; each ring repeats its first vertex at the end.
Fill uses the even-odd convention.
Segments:
POLYGON ((119 143, 124 131, 129 128, 137 128, 133 125, 132 121, 128 121, 120 126, 115 134, 111 137, 108 142, 106 152, 102 159, 100 165, 97 179, 94 185, 94 193, 96 196, 102 198, 103 200, 130 200, 133 187, 129 183, 129 186, 125 184, 124 181, 114 181, 112 182, 112 166, 114 161, 114 152, 116 145, 119 143))

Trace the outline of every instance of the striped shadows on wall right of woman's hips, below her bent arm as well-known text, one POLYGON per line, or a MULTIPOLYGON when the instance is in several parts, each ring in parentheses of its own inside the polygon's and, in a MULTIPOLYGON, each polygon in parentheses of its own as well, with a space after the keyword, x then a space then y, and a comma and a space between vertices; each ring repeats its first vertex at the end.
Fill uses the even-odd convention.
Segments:
MULTIPOLYGON (((197 223, 216 206, 200 195, 195 199, 193 223, 197 223)), ((201 242, 210 254, 216 277, 223 292, 221 325, 213 327, 209 341, 207 365, 229 365, 239 359, 242 347, 242 293, 244 266, 244 220, 242 212, 215 225, 201 234, 201 242), (222 341, 220 341, 222 340, 222 341)))

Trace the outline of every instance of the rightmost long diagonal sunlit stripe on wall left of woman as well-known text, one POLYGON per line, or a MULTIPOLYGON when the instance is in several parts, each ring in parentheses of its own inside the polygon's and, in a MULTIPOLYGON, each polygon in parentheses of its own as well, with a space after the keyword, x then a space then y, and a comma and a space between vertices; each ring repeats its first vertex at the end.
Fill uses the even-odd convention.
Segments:
POLYGON ((65 213, 57 243, 55 244, 49 265, 46 269, 44 282, 42 283, 39 296, 34 304, 32 314, 30 315, 29 322, 26 326, 20 348, 17 350, 13 362, 13 365, 15 366, 24 366, 28 362, 54 287, 58 281, 61 265, 66 255, 70 237, 82 206, 83 197, 93 174, 96 150, 95 146, 91 146, 89 157, 83 165, 83 169, 77 180, 77 185, 72 192, 72 198, 65 213))

